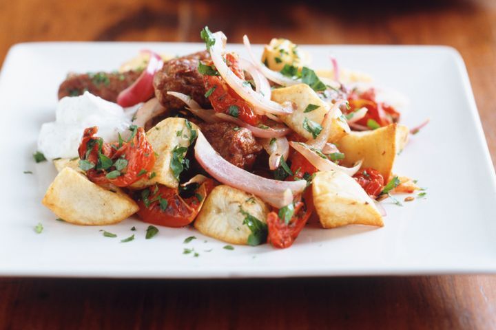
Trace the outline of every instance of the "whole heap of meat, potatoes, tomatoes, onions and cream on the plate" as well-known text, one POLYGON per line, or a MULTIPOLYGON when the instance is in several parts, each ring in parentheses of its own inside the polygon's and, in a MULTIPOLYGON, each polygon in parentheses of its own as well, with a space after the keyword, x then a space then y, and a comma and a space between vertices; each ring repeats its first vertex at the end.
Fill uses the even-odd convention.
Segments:
POLYGON ((369 76, 334 58, 311 69, 286 39, 257 57, 245 36, 242 58, 223 32, 200 36, 195 54, 147 50, 116 72, 68 75, 39 135, 37 155, 59 170, 43 205, 79 225, 137 214, 287 248, 309 221, 382 226, 378 201, 419 189, 393 174, 410 130, 369 76))

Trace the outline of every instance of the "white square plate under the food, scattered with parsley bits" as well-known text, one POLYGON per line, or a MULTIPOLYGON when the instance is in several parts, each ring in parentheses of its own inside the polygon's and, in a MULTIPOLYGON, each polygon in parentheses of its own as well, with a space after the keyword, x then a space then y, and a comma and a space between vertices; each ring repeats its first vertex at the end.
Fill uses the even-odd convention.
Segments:
MULTIPOLYGON (((309 226, 287 250, 236 246, 191 228, 147 224, 81 227, 55 220, 41 199, 55 170, 34 164, 40 125, 54 120, 56 92, 72 72, 113 70, 143 48, 169 54, 203 50, 190 43, 28 43, 14 46, 0 78, 0 275, 125 278, 234 278, 496 272, 495 173, 464 63, 448 47, 302 46, 313 67, 341 65, 371 74, 409 97, 402 122, 431 123, 411 137, 395 172, 428 188, 425 199, 384 202, 384 228, 309 226), (34 174, 23 174, 31 170, 34 174), (44 230, 36 234, 37 223, 44 230), (136 226, 136 232, 130 228, 136 226), (118 234, 103 237, 99 230, 118 234), (131 234, 136 239, 120 243, 131 234), (187 236, 198 239, 185 244, 187 236), (206 241, 206 242, 205 242, 206 241), (200 255, 183 254, 194 248, 200 255), (210 252, 207 252, 211 250, 210 252)), ((242 52, 240 45, 229 45, 242 52)), ((260 52, 261 48, 256 50, 260 52)))

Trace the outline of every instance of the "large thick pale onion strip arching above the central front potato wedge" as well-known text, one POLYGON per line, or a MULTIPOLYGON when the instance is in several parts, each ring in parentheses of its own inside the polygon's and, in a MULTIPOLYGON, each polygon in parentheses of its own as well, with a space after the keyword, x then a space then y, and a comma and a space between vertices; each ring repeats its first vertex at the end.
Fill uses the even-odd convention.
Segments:
POLYGON ((194 150, 196 160, 212 177, 223 184, 254 194, 275 208, 287 206, 307 186, 304 180, 272 180, 234 166, 216 153, 201 132, 198 132, 194 150))

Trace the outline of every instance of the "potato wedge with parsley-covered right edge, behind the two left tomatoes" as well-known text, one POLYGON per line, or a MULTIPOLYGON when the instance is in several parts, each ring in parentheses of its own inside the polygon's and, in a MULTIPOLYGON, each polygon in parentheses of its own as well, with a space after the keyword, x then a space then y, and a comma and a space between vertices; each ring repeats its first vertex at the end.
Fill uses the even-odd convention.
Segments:
POLYGON ((178 187, 178 180, 170 167, 172 160, 172 151, 176 146, 189 147, 189 138, 192 136, 192 130, 198 134, 198 126, 192 122, 187 122, 184 118, 166 118, 147 131, 147 139, 154 152, 158 154, 152 172, 147 177, 136 181, 131 188, 140 189, 152 184, 163 184, 170 188, 178 187), (191 128, 187 126, 191 124, 191 128), (155 173, 152 179, 150 175, 155 173))

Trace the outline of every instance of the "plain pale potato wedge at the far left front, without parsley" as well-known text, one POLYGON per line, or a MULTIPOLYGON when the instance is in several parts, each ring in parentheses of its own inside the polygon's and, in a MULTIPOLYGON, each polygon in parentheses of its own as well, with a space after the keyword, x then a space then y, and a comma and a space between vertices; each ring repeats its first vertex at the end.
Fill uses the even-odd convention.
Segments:
POLYGON ((55 177, 41 203, 76 225, 110 225, 138 212, 138 205, 121 190, 102 188, 70 167, 55 177))

